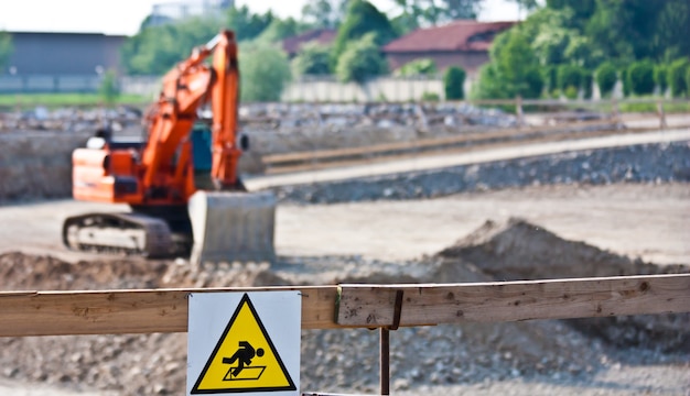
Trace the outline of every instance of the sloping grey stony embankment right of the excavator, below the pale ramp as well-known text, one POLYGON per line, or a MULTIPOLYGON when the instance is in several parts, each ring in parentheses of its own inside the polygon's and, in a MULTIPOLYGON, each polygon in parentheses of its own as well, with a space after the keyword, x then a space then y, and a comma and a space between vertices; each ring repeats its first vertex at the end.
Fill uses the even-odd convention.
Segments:
POLYGON ((334 204, 442 197, 551 184, 690 182, 690 143, 645 144, 443 169, 274 187, 280 200, 334 204))

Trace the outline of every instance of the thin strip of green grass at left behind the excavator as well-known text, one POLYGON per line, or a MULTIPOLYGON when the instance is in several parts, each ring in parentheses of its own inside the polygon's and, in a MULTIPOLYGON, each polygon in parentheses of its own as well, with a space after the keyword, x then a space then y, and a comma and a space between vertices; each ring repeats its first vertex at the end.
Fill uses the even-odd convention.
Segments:
MULTIPOLYGON (((152 102, 149 97, 140 95, 120 95, 116 105, 145 105, 152 102)), ((0 95, 0 107, 30 109, 36 106, 58 107, 97 107, 104 105, 98 94, 4 94, 0 95)))

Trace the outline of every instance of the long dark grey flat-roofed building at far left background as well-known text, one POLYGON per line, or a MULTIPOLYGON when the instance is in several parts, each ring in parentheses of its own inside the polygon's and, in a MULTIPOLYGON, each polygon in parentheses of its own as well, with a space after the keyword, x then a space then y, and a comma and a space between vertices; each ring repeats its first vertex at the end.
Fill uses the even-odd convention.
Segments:
POLYGON ((11 32, 8 70, 15 76, 88 76, 120 72, 120 46, 127 38, 101 33, 11 32))

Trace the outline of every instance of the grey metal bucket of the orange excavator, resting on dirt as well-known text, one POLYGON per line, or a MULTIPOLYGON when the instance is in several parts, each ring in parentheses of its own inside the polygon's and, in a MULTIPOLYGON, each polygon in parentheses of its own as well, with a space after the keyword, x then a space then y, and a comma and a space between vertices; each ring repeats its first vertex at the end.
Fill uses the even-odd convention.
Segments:
POLYGON ((276 196, 271 193, 196 191, 188 202, 191 263, 276 260, 276 196))

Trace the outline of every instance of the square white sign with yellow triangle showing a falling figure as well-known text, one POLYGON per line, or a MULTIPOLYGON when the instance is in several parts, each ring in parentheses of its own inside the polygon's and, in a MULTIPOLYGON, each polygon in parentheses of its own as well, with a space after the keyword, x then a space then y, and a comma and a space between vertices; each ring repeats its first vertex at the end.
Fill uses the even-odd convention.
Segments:
POLYGON ((260 395, 271 393, 271 395, 276 395, 276 393, 284 393, 285 395, 297 395, 299 387, 300 314, 301 301, 298 292, 195 294, 191 296, 187 394, 245 393, 260 395), (280 296, 271 297, 274 294, 280 294, 280 296), (218 317, 227 318, 228 315, 222 315, 222 312, 227 312, 228 302, 233 299, 236 300, 238 296, 240 296, 239 301, 230 305, 235 308, 229 319, 226 319, 223 328, 218 328, 218 317), (270 300, 273 301, 270 302, 270 300), (206 319, 212 327, 216 328, 216 331, 204 330, 203 326, 200 326, 200 321, 205 320, 204 317, 200 318, 200 314, 209 316, 206 319), (297 331, 288 331, 288 333, 293 333, 291 336, 285 333, 285 324, 288 324, 285 320, 297 324, 293 326, 297 327, 297 331), (273 326, 271 326, 272 323, 273 326), (195 341, 198 337, 197 329, 198 333, 202 333, 202 339, 195 341), (220 331, 217 331, 218 329, 220 331), (217 336, 213 338, 212 333, 217 333, 217 336), (211 340, 215 342, 209 342, 211 340), (203 353, 197 349, 207 352, 203 353), (205 359, 198 359, 204 355, 205 359), (192 386, 190 387, 190 385, 192 386))

